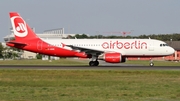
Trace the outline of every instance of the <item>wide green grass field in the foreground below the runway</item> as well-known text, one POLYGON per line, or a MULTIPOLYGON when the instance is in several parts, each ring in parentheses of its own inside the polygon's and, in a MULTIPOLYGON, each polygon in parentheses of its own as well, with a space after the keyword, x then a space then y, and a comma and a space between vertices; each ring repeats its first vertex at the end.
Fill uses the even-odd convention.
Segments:
POLYGON ((179 101, 180 71, 0 70, 0 101, 179 101))

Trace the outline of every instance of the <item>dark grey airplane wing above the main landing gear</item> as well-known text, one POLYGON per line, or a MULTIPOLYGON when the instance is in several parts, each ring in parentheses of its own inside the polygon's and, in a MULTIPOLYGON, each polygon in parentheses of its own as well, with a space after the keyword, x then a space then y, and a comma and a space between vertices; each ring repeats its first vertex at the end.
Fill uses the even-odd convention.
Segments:
POLYGON ((73 46, 73 45, 65 45, 65 46, 70 47, 73 50, 85 52, 86 54, 100 55, 100 54, 104 53, 104 51, 102 51, 102 50, 89 49, 89 48, 78 47, 78 46, 73 46))

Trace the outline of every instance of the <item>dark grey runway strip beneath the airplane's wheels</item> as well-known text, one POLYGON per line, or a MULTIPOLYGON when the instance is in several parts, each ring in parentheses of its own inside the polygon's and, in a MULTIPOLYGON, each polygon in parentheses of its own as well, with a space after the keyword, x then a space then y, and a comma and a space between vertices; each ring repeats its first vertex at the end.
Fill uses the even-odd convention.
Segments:
POLYGON ((0 65, 0 69, 36 70, 180 70, 179 66, 44 66, 44 65, 0 65))

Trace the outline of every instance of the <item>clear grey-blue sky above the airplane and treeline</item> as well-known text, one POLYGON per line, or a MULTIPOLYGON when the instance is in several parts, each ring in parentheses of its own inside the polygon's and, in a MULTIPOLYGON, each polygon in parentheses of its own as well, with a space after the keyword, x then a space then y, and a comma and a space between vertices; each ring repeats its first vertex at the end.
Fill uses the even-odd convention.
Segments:
POLYGON ((36 33, 56 28, 89 35, 180 33, 179 5, 180 0, 3 0, 0 41, 10 34, 9 12, 18 12, 36 33))

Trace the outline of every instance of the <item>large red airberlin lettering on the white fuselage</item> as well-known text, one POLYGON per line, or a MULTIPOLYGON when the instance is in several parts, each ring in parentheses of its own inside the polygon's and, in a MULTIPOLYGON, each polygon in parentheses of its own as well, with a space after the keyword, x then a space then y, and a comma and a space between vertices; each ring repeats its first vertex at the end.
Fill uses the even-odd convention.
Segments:
POLYGON ((104 49, 147 49, 147 43, 141 41, 119 42, 110 41, 102 44, 104 49))

